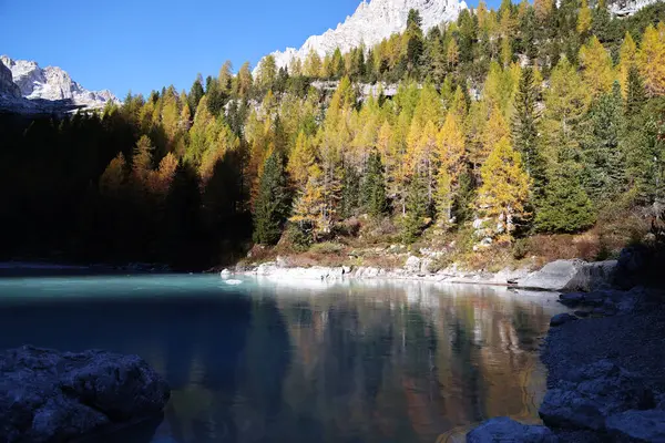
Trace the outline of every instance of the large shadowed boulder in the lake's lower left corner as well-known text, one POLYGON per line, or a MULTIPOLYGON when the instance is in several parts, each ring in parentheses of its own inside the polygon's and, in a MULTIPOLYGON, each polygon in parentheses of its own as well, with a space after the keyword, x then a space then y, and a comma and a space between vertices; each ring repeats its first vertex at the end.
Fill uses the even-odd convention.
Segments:
POLYGON ((165 380, 136 356, 23 347, 0 354, 0 441, 64 442, 154 416, 165 380))

